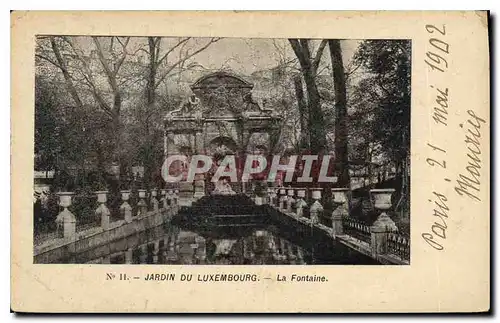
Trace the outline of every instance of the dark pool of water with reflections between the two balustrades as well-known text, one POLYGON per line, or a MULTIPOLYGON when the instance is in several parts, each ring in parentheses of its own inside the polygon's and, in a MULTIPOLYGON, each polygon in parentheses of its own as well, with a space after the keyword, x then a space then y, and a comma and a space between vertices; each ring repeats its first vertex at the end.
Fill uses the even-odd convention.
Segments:
POLYGON ((276 224, 192 227, 166 223, 79 254, 72 262, 103 264, 304 265, 374 264, 312 232, 276 224))

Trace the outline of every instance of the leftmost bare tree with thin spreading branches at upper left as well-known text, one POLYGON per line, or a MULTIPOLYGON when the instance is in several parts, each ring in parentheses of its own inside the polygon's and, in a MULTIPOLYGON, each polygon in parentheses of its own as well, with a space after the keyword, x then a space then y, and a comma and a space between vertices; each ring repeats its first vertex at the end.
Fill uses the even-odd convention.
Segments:
MULTIPOLYGON (((78 45, 77 39, 66 36, 49 36, 51 53, 47 55, 43 49, 37 57, 44 59, 60 69, 65 87, 70 94, 74 105, 85 110, 88 104, 82 86, 94 99, 96 106, 109 120, 108 141, 111 143, 112 160, 122 166, 121 135, 122 124, 120 114, 124 83, 119 73, 129 55, 127 47, 130 37, 92 37, 94 52, 97 60, 89 57, 78 45), (106 42, 107 41, 107 42, 106 42), (104 44, 106 42, 106 45, 104 44), (99 62, 100 67, 95 63, 99 62), (105 76, 107 86, 104 86, 99 76, 105 76)), ((99 148, 99 147, 98 147, 99 148)), ((104 173, 104 161, 100 157, 100 172, 104 173)))

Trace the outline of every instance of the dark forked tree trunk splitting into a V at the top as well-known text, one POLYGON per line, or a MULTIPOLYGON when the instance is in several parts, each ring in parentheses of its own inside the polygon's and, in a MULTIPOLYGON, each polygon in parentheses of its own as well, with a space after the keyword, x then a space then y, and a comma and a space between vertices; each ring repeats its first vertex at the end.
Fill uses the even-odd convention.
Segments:
POLYGON ((306 84, 309 110, 308 130, 311 152, 320 154, 325 152, 327 141, 325 120, 323 111, 321 110, 321 98, 316 84, 316 75, 327 41, 321 41, 316 51, 316 55, 314 56, 311 54, 309 40, 289 39, 289 42, 299 60, 302 76, 306 84))

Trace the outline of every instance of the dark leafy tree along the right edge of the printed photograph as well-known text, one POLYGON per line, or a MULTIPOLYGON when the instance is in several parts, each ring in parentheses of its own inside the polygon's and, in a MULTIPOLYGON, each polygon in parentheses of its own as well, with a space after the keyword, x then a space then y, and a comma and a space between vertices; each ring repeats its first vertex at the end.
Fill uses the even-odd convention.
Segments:
POLYGON ((372 116, 373 141, 397 166, 401 202, 409 196, 411 42, 366 40, 354 60, 367 75, 356 86, 354 96, 371 101, 365 108, 372 116))

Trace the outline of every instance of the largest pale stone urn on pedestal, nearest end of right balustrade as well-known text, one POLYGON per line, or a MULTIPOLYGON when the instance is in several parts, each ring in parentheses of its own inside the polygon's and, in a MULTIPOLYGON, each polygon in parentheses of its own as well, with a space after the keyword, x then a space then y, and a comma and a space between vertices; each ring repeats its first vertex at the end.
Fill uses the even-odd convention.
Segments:
POLYGON ((384 255, 387 253, 387 236, 390 232, 398 230, 394 221, 389 217, 387 211, 391 208, 391 197, 395 189, 373 189, 370 197, 373 206, 380 215, 371 226, 371 249, 372 255, 384 255))

